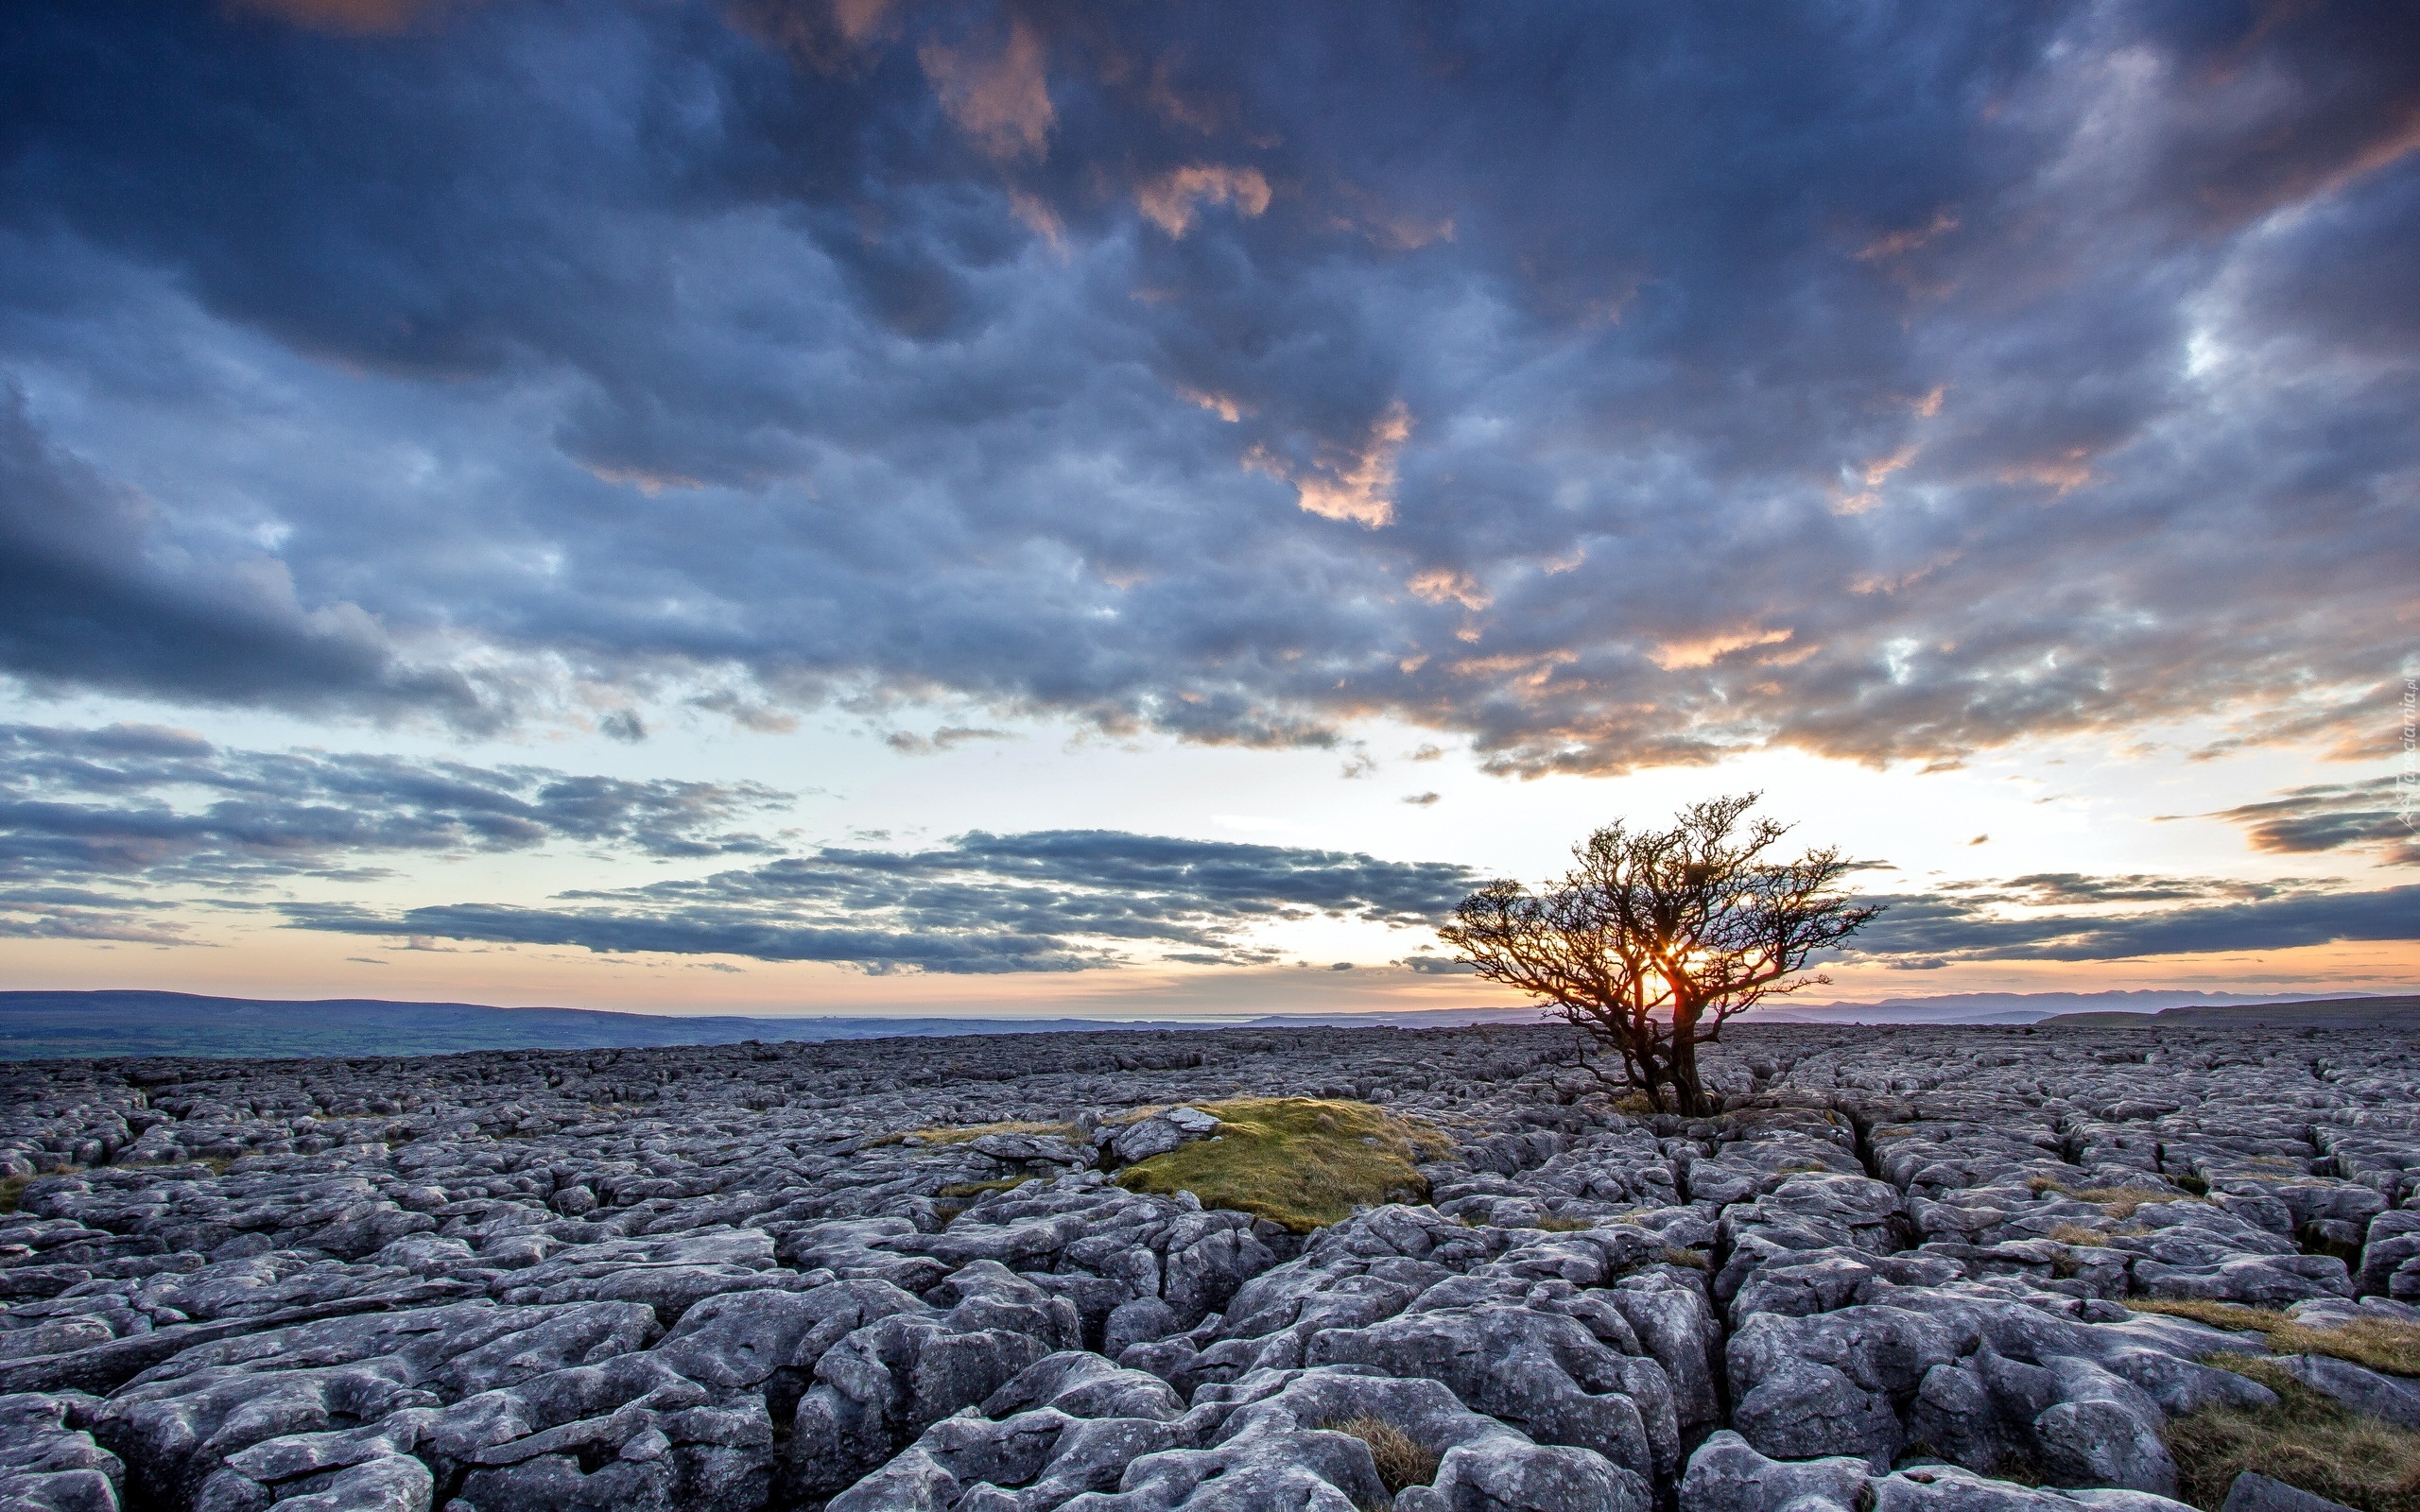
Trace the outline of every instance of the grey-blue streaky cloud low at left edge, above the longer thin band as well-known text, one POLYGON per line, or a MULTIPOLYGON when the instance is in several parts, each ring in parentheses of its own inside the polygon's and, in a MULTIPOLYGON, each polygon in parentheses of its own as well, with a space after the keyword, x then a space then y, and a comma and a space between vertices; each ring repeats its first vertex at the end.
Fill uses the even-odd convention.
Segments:
POLYGON ((786 793, 629 781, 549 767, 261 752, 148 726, 0 726, 0 914, 7 931, 138 929, 140 888, 213 895, 298 878, 358 881, 394 854, 552 842, 649 856, 765 854, 733 823, 786 793))

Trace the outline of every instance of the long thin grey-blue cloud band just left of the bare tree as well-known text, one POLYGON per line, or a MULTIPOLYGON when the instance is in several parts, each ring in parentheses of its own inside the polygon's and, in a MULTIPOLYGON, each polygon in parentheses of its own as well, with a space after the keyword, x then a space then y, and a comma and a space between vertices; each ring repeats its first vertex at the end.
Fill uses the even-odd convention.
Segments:
POLYGON ((869 973, 1012 973, 1162 960, 1266 963, 1237 941, 1254 924, 1314 914, 1433 924, 1481 878, 1442 861, 1169 839, 1123 830, 961 835, 924 852, 828 847, 748 871, 612 893, 571 907, 286 907, 298 929, 832 960, 869 973))

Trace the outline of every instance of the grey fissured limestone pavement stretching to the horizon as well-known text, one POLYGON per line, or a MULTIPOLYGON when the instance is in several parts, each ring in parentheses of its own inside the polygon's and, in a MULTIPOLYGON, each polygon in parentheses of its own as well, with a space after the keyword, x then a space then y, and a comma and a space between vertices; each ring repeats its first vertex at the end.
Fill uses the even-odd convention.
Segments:
POLYGON ((2176 1512, 2263 1381, 2420 1427, 2301 1347, 2420 1321, 2410 1038, 1750 1028, 1694 1123, 1561 1045, 0 1067, 0 1510, 2176 1512), (1457 1149, 1312 1234, 1116 1185, 1237 1093, 1457 1149), (1070 1127, 912 1135, 990 1123, 1070 1127))

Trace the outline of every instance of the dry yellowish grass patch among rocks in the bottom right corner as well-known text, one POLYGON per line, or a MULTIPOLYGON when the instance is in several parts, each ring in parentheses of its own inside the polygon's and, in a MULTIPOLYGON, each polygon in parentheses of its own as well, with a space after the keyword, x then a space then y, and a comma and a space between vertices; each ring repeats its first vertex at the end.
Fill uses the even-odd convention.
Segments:
POLYGON ((2258 1471, 2360 1512, 2420 1512, 2420 1432, 2350 1413, 2268 1360, 2214 1355, 2209 1364, 2260 1381, 2277 1406, 2171 1418, 2161 1437, 2180 1500, 2219 1512, 2236 1476, 2258 1471))

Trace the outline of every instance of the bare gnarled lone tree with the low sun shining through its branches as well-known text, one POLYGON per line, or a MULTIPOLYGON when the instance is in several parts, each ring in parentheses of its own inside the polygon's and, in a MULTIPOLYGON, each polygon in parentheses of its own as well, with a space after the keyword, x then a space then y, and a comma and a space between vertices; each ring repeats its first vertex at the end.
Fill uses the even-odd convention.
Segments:
MULTIPOLYGON (((1837 890, 1851 868, 1837 849, 1767 859, 1791 827, 1745 820, 1759 796, 1694 803, 1670 830, 1607 825, 1571 849, 1561 883, 1488 883, 1437 934, 1488 982, 1619 1050, 1619 1084, 1658 1113, 1713 1113, 1696 1048, 1767 997, 1830 982, 1805 975, 1808 958, 1883 912, 1837 890)), ((1580 1064, 1614 1081, 1585 1050, 1580 1064)))

